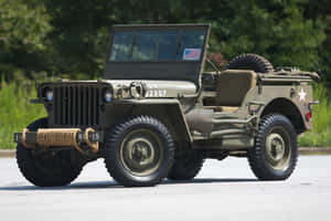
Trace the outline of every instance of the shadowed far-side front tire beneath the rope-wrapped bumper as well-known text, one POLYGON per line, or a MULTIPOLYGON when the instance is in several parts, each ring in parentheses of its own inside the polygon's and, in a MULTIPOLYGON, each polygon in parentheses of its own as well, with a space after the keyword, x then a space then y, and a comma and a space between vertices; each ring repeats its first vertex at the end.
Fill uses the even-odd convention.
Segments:
MULTIPOLYGON (((36 131, 38 128, 46 128, 47 118, 41 118, 28 126, 30 131, 36 131)), ((51 155, 35 155, 35 150, 28 149, 23 145, 17 146, 17 162, 26 180, 39 187, 58 187, 71 183, 78 177, 83 167, 71 164, 70 151, 61 150, 51 155), (61 164, 55 161, 55 157, 61 157, 61 164), (53 161, 52 161, 53 160, 53 161), (45 162, 46 161, 46 162, 45 162), (45 164, 54 166, 44 167, 45 164)))

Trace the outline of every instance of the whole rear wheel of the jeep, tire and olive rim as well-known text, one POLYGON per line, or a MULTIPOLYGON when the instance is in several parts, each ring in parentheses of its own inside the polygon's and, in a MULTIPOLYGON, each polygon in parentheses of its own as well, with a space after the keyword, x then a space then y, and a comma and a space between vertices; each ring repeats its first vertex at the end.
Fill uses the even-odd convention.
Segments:
POLYGON ((285 180, 298 160, 297 134, 282 115, 261 118, 254 148, 248 150, 249 166, 260 180, 285 180))

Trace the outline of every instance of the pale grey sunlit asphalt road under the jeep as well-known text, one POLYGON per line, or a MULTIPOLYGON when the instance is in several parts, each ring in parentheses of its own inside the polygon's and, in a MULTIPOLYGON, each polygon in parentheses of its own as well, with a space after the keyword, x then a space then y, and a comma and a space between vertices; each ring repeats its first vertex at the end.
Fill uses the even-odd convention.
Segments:
POLYGON ((331 220, 331 156, 300 157, 286 181, 257 181, 246 159, 210 160, 194 181, 122 188, 102 160, 71 186, 36 188, 0 158, 0 220, 331 220))

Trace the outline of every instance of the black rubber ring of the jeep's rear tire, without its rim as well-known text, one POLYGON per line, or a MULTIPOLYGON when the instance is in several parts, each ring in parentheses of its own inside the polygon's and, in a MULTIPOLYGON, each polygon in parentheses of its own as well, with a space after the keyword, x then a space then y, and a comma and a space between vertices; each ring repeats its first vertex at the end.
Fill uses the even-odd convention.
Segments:
POLYGON ((291 122, 282 115, 267 115, 259 123, 255 137, 255 146, 247 152, 249 166, 260 180, 285 180, 293 172, 298 160, 297 134, 291 122), (290 157, 287 167, 275 169, 268 162, 266 154, 266 138, 274 128, 282 128, 288 134, 290 157))

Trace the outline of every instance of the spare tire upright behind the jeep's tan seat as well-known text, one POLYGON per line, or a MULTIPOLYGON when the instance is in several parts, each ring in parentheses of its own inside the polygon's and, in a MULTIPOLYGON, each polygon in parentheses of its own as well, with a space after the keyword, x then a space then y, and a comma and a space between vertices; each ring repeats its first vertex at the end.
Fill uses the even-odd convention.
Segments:
POLYGON ((257 54, 241 54, 228 62, 228 70, 253 70, 257 73, 274 72, 273 64, 257 54))

